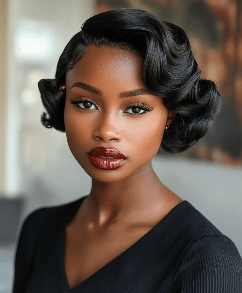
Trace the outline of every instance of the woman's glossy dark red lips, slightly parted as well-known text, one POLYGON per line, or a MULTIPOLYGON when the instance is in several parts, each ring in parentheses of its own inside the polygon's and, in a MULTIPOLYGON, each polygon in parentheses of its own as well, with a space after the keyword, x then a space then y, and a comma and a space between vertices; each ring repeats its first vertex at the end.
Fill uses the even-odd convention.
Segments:
POLYGON ((115 170, 121 167, 126 157, 116 149, 96 147, 87 154, 88 159, 95 167, 103 170, 115 170))

